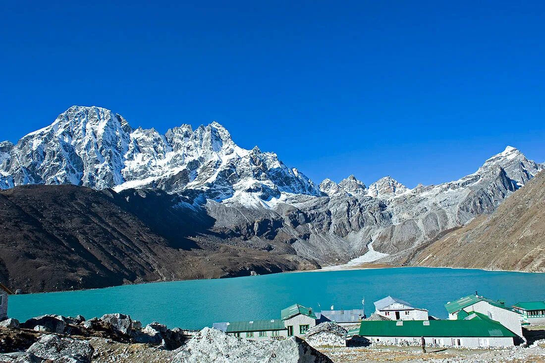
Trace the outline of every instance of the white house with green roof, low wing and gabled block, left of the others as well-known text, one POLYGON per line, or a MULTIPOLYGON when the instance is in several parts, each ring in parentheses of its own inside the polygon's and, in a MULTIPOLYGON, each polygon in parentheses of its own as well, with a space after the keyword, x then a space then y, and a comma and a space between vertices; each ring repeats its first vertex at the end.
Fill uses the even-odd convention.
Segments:
POLYGON ((214 323, 212 327, 240 338, 264 340, 285 339, 290 336, 301 337, 317 323, 317 317, 312 308, 299 304, 282 309, 280 316, 280 319, 214 323))

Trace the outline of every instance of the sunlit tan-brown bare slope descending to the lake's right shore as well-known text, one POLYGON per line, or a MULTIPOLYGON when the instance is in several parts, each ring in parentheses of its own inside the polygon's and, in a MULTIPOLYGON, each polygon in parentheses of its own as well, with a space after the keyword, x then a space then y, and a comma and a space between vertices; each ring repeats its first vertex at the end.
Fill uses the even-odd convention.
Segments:
POLYGON ((545 172, 513 193, 492 215, 478 216, 423 246, 405 263, 545 271, 545 172))

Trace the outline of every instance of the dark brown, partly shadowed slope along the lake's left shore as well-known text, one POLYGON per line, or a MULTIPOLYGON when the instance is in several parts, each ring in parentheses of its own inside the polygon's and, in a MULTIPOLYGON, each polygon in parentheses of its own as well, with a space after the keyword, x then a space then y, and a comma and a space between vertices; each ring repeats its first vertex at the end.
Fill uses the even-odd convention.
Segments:
POLYGON ((181 205, 180 197, 152 190, 1 191, 0 281, 26 292, 52 291, 313 266, 285 251, 210 242, 217 240, 207 231, 213 219, 181 205))

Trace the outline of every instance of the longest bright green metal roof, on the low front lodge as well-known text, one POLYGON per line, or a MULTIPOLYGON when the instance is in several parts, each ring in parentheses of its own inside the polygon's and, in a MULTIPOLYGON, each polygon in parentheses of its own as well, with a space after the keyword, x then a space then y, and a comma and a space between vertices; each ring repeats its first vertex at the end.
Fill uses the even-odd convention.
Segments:
POLYGON ((359 335, 369 337, 516 337, 505 326, 493 320, 480 319, 363 321, 359 335), (399 323, 402 324, 398 325, 399 323))

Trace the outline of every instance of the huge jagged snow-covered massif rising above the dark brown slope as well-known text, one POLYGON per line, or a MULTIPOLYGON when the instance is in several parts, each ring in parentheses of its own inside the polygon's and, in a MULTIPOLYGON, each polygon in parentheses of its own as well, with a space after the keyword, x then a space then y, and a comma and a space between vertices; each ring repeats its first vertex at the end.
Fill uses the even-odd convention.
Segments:
POLYGON ((235 145, 219 123, 169 129, 133 129, 120 115, 73 106, 17 145, 0 144, 0 188, 74 184, 95 189, 159 187, 193 190, 214 200, 250 193, 267 200, 281 193, 321 195, 305 175, 275 153, 235 145))

